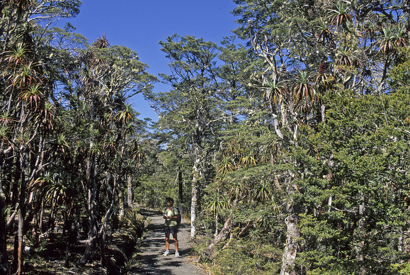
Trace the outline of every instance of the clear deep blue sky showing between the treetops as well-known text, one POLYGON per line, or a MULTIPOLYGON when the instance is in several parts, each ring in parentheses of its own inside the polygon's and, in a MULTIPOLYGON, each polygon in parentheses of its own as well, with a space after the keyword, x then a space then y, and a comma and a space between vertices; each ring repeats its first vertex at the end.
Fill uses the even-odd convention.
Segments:
MULTIPOLYGON (((235 7, 230 0, 83 0, 79 15, 69 22, 90 42, 105 34, 110 44, 131 48, 150 66, 148 72, 158 77, 169 73, 158 41, 176 33, 219 43, 237 27, 230 13, 235 7)), ((157 83, 154 91, 169 89, 157 83)), ((140 119, 157 120, 141 94, 131 104, 141 113, 140 119)))

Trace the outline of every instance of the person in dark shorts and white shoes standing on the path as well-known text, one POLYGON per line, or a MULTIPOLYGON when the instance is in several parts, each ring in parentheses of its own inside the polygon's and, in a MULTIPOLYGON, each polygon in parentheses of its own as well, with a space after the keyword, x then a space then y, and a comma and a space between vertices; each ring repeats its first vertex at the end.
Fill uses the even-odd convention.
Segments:
POLYGON ((167 208, 164 209, 162 217, 165 219, 165 228, 163 232, 165 233, 165 253, 163 256, 170 254, 170 234, 174 239, 175 244, 175 257, 179 257, 178 252, 178 210, 173 207, 174 199, 167 197, 167 208))

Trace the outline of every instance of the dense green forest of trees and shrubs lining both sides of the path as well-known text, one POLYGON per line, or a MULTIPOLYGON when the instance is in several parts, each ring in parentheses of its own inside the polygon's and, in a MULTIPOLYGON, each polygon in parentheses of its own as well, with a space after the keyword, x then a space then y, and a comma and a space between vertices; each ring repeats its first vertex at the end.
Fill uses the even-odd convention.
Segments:
POLYGON ((408 3, 233 2, 158 78, 79 0, 1 2, 0 273, 125 274, 168 196, 214 274, 410 273, 408 3))

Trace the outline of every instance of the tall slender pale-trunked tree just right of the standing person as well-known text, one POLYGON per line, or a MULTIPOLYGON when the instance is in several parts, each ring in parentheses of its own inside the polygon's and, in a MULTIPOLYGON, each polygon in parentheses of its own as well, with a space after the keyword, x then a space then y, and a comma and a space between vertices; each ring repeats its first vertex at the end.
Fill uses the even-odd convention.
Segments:
MULTIPOLYGON (((196 236, 200 192, 210 181, 208 163, 215 146, 215 132, 229 115, 221 108, 224 101, 219 87, 216 66, 217 46, 192 36, 168 37, 160 41, 162 51, 170 59, 171 76, 161 77, 172 85, 169 92, 146 94, 159 113, 160 130, 171 131, 183 138, 184 150, 192 162, 192 193, 190 200, 191 237, 196 236)), ((232 114, 231 114, 232 116, 232 114)))

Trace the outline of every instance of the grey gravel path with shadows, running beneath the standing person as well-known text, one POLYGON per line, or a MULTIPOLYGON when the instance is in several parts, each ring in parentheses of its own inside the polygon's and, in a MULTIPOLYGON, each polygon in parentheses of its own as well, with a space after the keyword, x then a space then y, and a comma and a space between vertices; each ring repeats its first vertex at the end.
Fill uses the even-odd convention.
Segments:
POLYGON ((178 275, 205 275, 209 274, 193 262, 189 251, 192 243, 189 225, 182 220, 179 233, 179 258, 175 258, 174 242, 170 243, 170 255, 164 257, 165 234, 162 232, 163 218, 161 212, 141 209, 141 214, 148 217, 148 232, 144 239, 139 256, 139 265, 132 267, 130 274, 178 274, 178 275))

